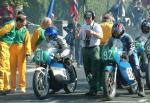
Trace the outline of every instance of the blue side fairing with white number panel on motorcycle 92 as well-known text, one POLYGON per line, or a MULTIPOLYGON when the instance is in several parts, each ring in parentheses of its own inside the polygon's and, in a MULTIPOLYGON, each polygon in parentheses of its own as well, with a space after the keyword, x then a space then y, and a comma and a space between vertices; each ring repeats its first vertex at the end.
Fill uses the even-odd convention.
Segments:
POLYGON ((119 71, 124 80, 124 84, 125 85, 133 84, 135 82, 135 77, 132 72, 131 65, 127 61, 122 60, 119 54, 115 54, 114 59, 118 64, 119 71))

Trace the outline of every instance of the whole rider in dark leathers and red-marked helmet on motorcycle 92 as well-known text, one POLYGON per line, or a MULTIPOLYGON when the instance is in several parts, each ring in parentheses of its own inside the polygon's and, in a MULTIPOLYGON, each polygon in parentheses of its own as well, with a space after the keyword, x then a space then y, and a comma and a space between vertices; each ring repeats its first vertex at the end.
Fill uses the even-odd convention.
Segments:
MULTIPOLYGON (((112 28, 112 37, 109 40, 110 47, 114 46, 115 39, 119 39, 123 46, 123 51, 127 51, 125 56, 129 57, 129 63, 133 68, 135 78, 138 82, 138 95, 145 97, 144 84, 142 83, 141 69, 139 67, 139 61, 134 46, 132 37, 125 32, 125 28, 121 23, 115 23, 112 28)), ((117 43, 118 44, 118 43, 117 43)))

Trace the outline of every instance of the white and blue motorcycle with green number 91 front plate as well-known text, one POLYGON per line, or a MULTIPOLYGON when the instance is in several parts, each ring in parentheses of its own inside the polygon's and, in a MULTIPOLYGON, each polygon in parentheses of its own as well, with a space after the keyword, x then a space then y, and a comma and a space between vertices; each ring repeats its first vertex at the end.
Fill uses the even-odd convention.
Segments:
POLYGON ((64 89, 72 93, 77 86, 77 73, 69 58, 56 59, 54 51, 38 49, 33 61, 37 67, 33 75, 33 91, 38 99, 47 98, 51 92, 64 89))

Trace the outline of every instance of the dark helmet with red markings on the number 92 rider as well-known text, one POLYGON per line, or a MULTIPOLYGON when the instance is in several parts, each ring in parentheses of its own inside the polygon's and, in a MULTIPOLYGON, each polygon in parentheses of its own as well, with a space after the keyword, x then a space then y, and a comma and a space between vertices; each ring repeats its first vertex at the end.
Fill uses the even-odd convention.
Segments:
POLYGON ((112 36, 114 38, 120 38, 121 35, 125 32, 125 27, 122 23, 115 23, 112 27, 112 36))

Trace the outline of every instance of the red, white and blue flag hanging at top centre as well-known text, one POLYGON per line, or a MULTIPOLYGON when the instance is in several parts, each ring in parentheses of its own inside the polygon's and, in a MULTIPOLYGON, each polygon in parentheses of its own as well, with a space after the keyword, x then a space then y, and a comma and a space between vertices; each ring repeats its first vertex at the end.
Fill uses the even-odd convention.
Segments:
POLYGON ((78 21, 78 0, 73 0, 70 6, 70 16, 74 22, 78 21))

